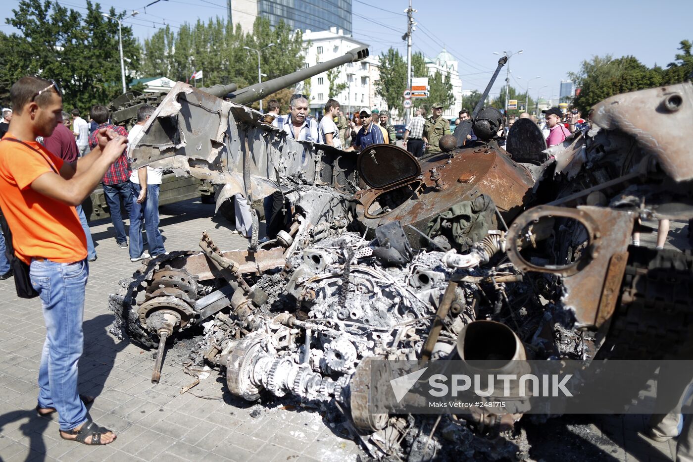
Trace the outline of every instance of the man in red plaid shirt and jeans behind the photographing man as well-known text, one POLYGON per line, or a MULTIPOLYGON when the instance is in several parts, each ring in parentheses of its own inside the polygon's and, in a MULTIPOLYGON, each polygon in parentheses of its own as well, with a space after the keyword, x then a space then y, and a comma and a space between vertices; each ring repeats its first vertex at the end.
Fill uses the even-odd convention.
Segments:
MULTIPOLYGON (((118 135, 128 136, 128 130, 121 126, 114 126, 108 123, 109 112, 108 109, 100 104, 91 108, 91 119, 94 119, 98 123, 98 128, 96 131, 89 135, 89 147, 94 149, 98 144, 96 139, 96 133, 100 128, 110 128, 114 130, 118 135)), ((103 176, 103 195, 106 198, 106 203, 109 209, 111 209, 111 221, 113 222, 114 228, 116 228, 116 242, 121 248, 128 247, 128 235, 125 234, 125 223, 123 223, 123 218, 121 216, 121 198, 125 204, 125 210, 128 212, 128 217, 130 216, 130 211, 132 209, 132 191, 130 190, 130 164, 128 163, 128 149, 125 148, 121 157, 114 162, 106 174, 103 176)))

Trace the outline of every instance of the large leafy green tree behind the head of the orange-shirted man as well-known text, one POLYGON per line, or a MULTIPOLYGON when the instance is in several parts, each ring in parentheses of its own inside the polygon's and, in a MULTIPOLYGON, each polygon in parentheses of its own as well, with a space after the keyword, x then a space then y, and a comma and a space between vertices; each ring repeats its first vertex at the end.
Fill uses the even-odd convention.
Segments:
MULTIPOLYGON (((7 19, 19 33, 0 33, 0 95, 21 76, 52 78, 63 91, 66 109, 88 112, 122 93, 118 23, 105 19, 100 6, 87 1, 87 13, 68 10, 51 0, 20 0, 7 19)), ((108 12, 123 17, 114 8, 108 12)), ((123 27, 126 78, 139 69, 140 48, 132 29, 123 27)), ((5 101, 7 103, 8 101, 5 101)))

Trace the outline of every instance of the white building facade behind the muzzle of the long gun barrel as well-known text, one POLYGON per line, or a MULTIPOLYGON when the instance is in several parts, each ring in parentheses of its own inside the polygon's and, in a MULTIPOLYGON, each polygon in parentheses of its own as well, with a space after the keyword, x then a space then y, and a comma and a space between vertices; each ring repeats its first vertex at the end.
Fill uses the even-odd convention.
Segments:
MULTIPOLYGON (((363 42, 344 35, 342 29, 336 27, 329 31, 313 32, 306 30, 303 35, 304 43, 310 42, 306 51, 305 67, 325 62, 347 53, 347 51, 365 46, 363 42)), ((330 83, 327 72, 322 72, 310 78, 310 113, 318 117, 324 112, 325 103, 333 98, 339 101, 344 114, 358 112, 360 108, 386 109, 385 101, 376 94, 375 83, 380 78, 380 61, 378 56, 369 56, 360 62, 349 62, 335 69, 338 74, 335 85, 346 83, 347 87, 337 94, 329 94, 330 83)), ((302 83, 298 91, 306 92, 302 83)))

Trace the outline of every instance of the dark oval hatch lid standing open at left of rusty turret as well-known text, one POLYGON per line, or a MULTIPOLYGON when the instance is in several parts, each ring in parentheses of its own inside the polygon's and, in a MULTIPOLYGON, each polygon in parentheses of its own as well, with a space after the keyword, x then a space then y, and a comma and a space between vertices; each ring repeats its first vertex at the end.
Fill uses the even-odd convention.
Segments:
POLYGON ((392 144, 374 144, 356 160, 358 173, 371 188, 386 189, 421 175, 421 165, 408 151, 392 144))

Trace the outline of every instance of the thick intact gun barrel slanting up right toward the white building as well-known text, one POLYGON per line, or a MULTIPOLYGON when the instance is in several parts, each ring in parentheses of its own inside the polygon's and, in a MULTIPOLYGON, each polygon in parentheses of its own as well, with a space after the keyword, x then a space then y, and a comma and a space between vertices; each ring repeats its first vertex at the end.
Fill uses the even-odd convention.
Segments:
POLYGON ((272 80, 267 80, 263 83, 256 83, 255 85, 241 88, 238 91, 231 92, 231 94, 229 94, 229 98, 236 104, 253 103, 254 101, 263 99, 268 94, 272 94, 282 88, 299 83, 301 80, 306 80, 306 78, 313 77, 321 72, 334 69, 335 67, 347 64, 347 62, 364 60, 365 58, 368 58, 368 55, 368 47, 360 46, 347 51, 347 53, 339 58, 321 62, 315 66, 306 67, 306 69, 301 69, 293 72, 292 74, 287 74, 286 76, 273 78, 272 80))

